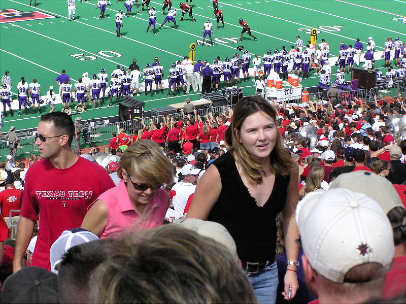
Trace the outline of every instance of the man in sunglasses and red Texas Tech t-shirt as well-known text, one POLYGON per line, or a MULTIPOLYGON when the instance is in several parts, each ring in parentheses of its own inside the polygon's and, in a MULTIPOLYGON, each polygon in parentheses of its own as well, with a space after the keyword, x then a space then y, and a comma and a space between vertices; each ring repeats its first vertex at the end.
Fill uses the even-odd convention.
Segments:
POLYGON ((25 176, 14 273, 21 269, 36 221, 41 228, 32 265, 50 269, 51 245, 62 231, 80 227, 88 206, 115 186, 103 167, 73 153, 74 130, 72 118, 63 112, 41 116, 35 145, 42 159, 25 176))

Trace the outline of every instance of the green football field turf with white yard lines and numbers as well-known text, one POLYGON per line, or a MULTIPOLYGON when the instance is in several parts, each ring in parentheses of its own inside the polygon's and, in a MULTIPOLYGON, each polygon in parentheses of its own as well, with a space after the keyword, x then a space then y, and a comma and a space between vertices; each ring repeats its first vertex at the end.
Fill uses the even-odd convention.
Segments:
MULTIPOLYGON (((132 59, 138 60, 142 70, 146 63, 151 64, 154 57, 158 57, 164 67, 164 79, 167 79, 172 63, 189 55, 191 43, 196 44, 195 60, 212 62, 217 56, 224 60, 225 57, 232 58, 233 53, 241 54, 237 50, 239 46, 260 57, 267 50, 274 52, 282 46, 289 50, 290 45, 295 45, 297 35, 306 44, 312 28, 318 31, 319 43, 321 39, 329 43, 330 56, 337 56, 341 41, 354 45, 359 38, 365 47, 367 37, 372 36, 376 51, 383 50, 386 37, 406 41, 406 0, 224 0, 219 1, 219 9, 223 11, 225 28, 220 22, 219 29, 216 29, 211 0, 193 1, 193 15, 197 22, 192 22, 187 14, 180 22, 179 2, 173 1, 173 7, 178 9, 178 30, 173 23, 166 23, 158 30, 165 17, 161 15, 162 1, 151 1, 150 7, 154 6, 157 11, 156 35, 153 35, 152 28, 146 32, 147 10, 136 13, 141 10, 140 0, 140 8, 134 4, 130 16, 123 18, 120 38, 116 36, 115 14, 118 10, 125 13, 124 1, 112 0, 103 19, 99 19, 96 3, 96 0, 82 3, 77 0, 76 20, 69 21, 64 0, 37 0, 38 7, 30 7, 28 0, 0 1, 0 73, 4 75, 4 71, 10 71, 13 93, 16 93, 22 76, 28 83, 36 78, 41 84, 42 95, 45 95, 49 86, 56 88, 55 78, 62 69, 76 82, 84 72, 91 77, 105 69, 110 75, 117 65, 128 67, 132 59), (245 34, 243 41, 239 42, 239 18, 250 25, 257 41, 245 34), (203 24, 207 20, 214 25, 213 46, 201 42, 203 24)), ((377 60, 376 67, 383 64, 382 60, 377 60)), ((302 81, 303 86, 317 85, 319 77, 313 76, 313 72, 310 76, 302 81)), ((346 80, 349 77, 350 74, 346 80)), ((251 80, 241 85, 244 95, 254 93, 251 80)), ((221 87, 224 87, 223 82, 221 87)), ((142 93, 138 98, 146 102, 146 110, 183 102, 185 98, 182 93, 166 97, 167 90, 164 92, 153 96, 142 93)), ((16 94, 13 97, 16 99, 16 94)), ((192 92, 187 97, 192 100, 200 98, 192 92)), ((17 100, 13 104, 17 105, 17 100)), ((88 107, 90 110, 81 114, 82 119, 107 117, 118 112, 118 107, 107 104, 105 102, 101 109, 88 107)), ((61 104, 56 105, 56 110, 61 108, 61 104)), ((43 109, 49 110, 48 106, 43 109)), ((39 114, 34 115, 31 109, 28 113, 28 117, 9 115, 5 118, 3 132, 8 131, 10 125, 17 129, 35 127, 39 114)), ((5 155, 3 150, 0 155, 5 155)))

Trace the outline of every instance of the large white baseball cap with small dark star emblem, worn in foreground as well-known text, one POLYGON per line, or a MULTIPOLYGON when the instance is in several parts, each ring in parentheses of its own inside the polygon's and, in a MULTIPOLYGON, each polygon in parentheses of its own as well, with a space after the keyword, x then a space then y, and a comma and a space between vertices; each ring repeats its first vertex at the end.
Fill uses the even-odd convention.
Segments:
POLYGON ((388 271, 392 264, 391 224, 365 194, 344 188, 310 192, 297 205, 296 222, 304 255, 332 282, 343 283, 357 265, 376 262, 388 271))

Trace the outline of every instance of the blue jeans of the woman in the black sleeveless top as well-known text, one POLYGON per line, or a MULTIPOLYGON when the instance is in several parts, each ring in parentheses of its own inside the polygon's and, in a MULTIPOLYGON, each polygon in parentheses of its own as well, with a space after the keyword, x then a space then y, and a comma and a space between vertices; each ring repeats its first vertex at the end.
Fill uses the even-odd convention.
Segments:
POLYGON ((278 289, 278 266, 276 261, 265 267, 265 270, 258 275, 248 274, 248 279, 254 288, 255 296, 259 304, 270 304, 276 302, 278 289))

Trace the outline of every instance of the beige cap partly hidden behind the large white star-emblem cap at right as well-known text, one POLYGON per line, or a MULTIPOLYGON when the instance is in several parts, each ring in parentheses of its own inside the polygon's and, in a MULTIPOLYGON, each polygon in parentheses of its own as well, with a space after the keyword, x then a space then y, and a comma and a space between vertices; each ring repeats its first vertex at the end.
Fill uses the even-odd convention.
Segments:
POLYGON ((375 199, 387 214, 395 207, 403 208, 395 187, 386 178, 369 171, 355 171, 341 174, 331 184, 329 189, 345 188, 363 193, 375 199))

